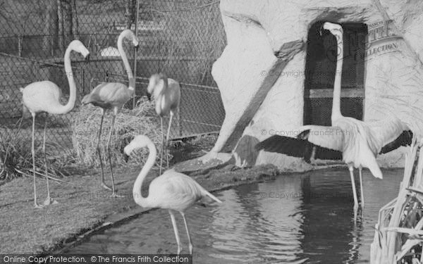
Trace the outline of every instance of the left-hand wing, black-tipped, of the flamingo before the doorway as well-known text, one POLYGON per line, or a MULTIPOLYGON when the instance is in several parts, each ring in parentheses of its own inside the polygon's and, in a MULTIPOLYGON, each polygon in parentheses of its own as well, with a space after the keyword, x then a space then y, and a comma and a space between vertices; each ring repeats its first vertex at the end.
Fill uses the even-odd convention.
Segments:
POLYGON ((342 160, 343 133, 339 127, 307 125, 297 138, 274 135, 256 145, 257 150, 288 156, 324 160, 342 160))

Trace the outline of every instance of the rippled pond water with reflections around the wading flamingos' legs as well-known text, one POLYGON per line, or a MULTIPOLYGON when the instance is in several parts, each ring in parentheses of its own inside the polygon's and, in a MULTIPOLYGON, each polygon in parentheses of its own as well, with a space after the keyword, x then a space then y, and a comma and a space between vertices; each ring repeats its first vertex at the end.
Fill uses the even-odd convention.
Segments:
MULTIPOLYGON (((220 206, 194 206, 186 212, 193 262, 369 263, 379 208, 398 195, 403 179, 403 170, 383 172, 384 180, 378 180, 364 170, 366 203, 356 224, 346 168, 281 175, 215 193, 223 201, 220 206)), ((359 187, 358 175, 356 180, 359 187)), ((180 215, 176 221, 181 253, 188 253, 180 215)), ((176 249, 168 211, 153 210, 63 253, 176 253, 176 249)))

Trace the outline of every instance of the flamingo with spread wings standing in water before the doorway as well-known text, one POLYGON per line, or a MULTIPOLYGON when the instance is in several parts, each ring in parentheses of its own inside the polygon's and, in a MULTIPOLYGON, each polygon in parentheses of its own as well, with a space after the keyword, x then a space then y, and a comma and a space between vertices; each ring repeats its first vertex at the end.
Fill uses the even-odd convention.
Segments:
POLYGON ((369 168, 374 177, 382 179, 382 172, 376 162, 378 153, 387 153, 400 146, 409 146, 412 132, 398 118, 387 118, 363 122, 341 114, 341 73, 343 65, 343 29, 341 25, 326 22, 323 25, 338 40, 338 58, 333 87, 331 127, 305 125, 300 127, 297 138, 274 135, 257 144, 256 149, 288 156, 343 160, 350 171, 353 187, 355 215, 358 209, 354 182, 354 168, 360 173, 361 206, 364 207, 362 168, 369 168))

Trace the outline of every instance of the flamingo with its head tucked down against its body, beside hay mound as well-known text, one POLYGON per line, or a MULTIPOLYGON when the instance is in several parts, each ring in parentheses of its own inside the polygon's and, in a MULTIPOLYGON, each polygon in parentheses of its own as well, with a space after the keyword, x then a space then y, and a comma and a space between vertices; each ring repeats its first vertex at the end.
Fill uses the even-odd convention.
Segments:
MULTIPOLYGON (((172 118, 175 113, 178 113, 179 103, 180 103, 180 86, 179 82, 171 78, 166 77, 164 73, 154 74, 149 78, 149 83, 147 87, 147 92, 149 95, 153 94, 154 101, 156 102, 156 113, 160 117, 161 125, 161 158, 160 158, 160 172, 161 174, 161 164, 163 162, 163 153, 165 150, 165 145, 167 149, 167 144, 169 140, 169 132, 171 131, 172 118), (170 115, 168 130, 166 134, 166 142, 164 142, 164 132, 163 132, 163 118, 167 115, 170 115)), ((167 168, 169 168, 169 160, 166 155, 167 168)))

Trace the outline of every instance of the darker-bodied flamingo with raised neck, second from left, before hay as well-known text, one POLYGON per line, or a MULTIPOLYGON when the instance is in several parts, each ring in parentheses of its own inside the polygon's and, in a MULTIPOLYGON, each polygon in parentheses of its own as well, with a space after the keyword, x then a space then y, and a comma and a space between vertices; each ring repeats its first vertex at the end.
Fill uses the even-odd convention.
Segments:
POLYGON ((138 39, 135 34, 130 30, 123 30, 118 37, 118 51, 121 54, 123 64, 125 65, 126 73, 128 74, 129 80, 129 87, 126 87, 125 84, 121 84, 120 82, 104 82, 102 84, 97 85, 90 94, 87 94, 82 99, 82 104, 92 103, 94 106, 99 106, 102 108, 102 119, 100 121, 100 129, 99 135, 97 139, 97 153, 100 159, 100 167, 102 168, 102 187, 105 189, 109 189, 112 191, 112 197, 118 197, 116 194, 115 187, 114 187, 114 177, 113 177, 113 169, 111 168, 111 156, 110 156, 110 139, 111 133, 114 130, 114 122, 116 119, 116 115, 121 110, 122 106, 130 100, 135 95, 135 78, 133 76, 132 70, 130 69, 130 65, 128 62, 128 58, 126 57, 125 51, 123 50, 123 39, 127 38, 130 39, 135 48, 138 46, 138 39), (107 139, 107 153, 109 154, 109 164, 110 164, 110 173, 111 173, 111 188, 108 187, 104 183, 104 170, 103 170, 103 163, 102 163, 102 153, 100 152, 100 137, 102 136, 102 126, 104 120, 104 113, 106 113, 107 109, 111 109, 113 111, 113 116, 111 119, 111 126, 109 131, 109 138, 107 139))

